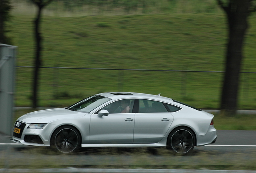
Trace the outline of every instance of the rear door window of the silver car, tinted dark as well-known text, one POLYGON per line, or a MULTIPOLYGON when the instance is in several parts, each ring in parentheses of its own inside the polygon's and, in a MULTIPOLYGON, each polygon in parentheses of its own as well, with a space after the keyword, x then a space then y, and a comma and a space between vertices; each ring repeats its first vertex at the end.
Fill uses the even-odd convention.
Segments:
POLYGON ((163 103, 151 100, 139 100, 139 113, 167 113, 163 103))

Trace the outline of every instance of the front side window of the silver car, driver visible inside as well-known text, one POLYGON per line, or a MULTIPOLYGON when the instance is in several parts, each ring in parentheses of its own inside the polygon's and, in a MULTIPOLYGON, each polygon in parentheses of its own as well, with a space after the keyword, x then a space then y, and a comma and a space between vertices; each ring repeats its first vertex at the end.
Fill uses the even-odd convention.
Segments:
POLYGON ((133 105, 134 105, 134 99, 124 99, 124 100, 110 103, 109 105, 103 107, 102 109, 107 110, 110 114, 132 113, 133 105))

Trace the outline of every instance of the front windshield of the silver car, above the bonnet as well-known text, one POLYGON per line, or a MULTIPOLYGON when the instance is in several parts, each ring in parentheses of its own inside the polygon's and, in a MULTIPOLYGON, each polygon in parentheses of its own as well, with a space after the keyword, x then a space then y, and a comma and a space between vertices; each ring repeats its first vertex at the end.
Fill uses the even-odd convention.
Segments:
POLYGON ((84 99, 70 107, 68 107, 71 111, 78 111, 83 113, 89 113, 93 109, 99 107, 103 103, 106 103, 107 101, 110 101, 111 99, 100 96, 100 95, 94 95, 91 97, 88 97, 87 99, 84 99))

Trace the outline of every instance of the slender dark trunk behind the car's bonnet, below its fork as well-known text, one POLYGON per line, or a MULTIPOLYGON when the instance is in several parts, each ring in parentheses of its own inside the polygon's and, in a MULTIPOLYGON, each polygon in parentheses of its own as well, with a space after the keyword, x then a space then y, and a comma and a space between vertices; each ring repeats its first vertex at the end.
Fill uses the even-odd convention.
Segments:
POLYGON ((38 81, 39 81, 39 69, 41 66, 41 33, 39 32, 39 27, 40 27, 40 20, 41 20, 41 10, 42 6, 38 5, 38 12, 37 12, 37 17, 34 20, 35 24, 35 68, 34 68, 34 82, 33 82, 33 108, 37 108, 38 106, 38 81))

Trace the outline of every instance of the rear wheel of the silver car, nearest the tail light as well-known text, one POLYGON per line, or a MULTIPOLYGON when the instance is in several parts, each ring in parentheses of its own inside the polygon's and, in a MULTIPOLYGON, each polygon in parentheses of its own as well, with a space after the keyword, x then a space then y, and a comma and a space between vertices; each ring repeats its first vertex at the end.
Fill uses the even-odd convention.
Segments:
POLYGON ((170 133, 167 145, 175 153, 187 154, 194 149, 195 144, 196 138, 194 133, 186 127, 178 127, 170 133))

